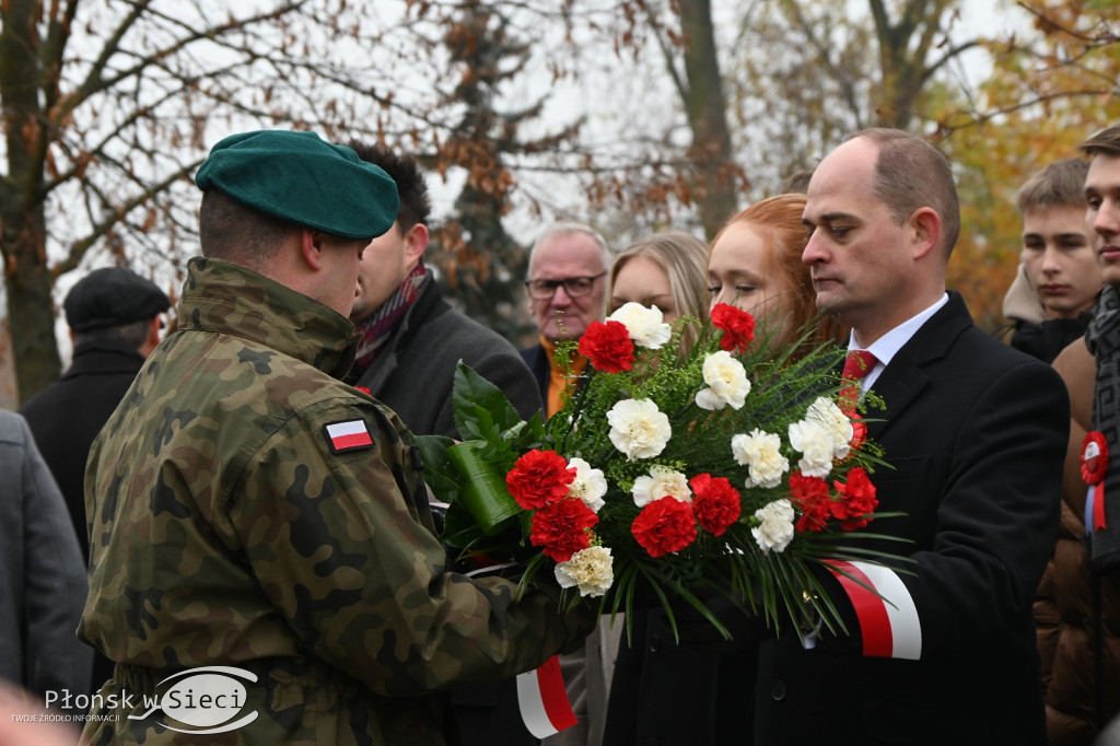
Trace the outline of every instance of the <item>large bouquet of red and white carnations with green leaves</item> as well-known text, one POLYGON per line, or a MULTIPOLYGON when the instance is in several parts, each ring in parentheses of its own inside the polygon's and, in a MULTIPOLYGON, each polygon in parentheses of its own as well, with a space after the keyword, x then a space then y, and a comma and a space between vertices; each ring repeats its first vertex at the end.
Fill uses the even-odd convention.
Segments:
POLYGON ((862 540, 889 539, 851 533, 877 517, 870 473, 884 463, 855 407, 837 403, 843 351, 775 354, 727 305, 682 351, 690 324, 626 304, 578 348, 560 345, 594 371, 548 421, 522 420, 460 364, 464 440, 420 438, 428 484, 450 505, 444 541, 513 565, 523 584, 547 569, 571 603, 600 597, 605 613, 629 615, 652 589, 674 632, 674 608, 691 607, 729 636, 713 596, 775 632, 842 628, 813 567, 887 559, 862 540))

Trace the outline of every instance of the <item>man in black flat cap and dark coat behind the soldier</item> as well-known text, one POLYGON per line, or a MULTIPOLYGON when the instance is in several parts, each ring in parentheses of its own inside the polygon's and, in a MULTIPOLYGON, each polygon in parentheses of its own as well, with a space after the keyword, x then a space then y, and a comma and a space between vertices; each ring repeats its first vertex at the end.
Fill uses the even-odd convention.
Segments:
MULTIPOLYGON (((161 315, 170 306, 166 292, 132 270, 105 267, 86 274, 63 301, 73 362, 19 410, 66 500, 83 563, 90 558, 83 488, 90 447, 159 344, 161 315)), ((112 662, 99 654, 83 693, 96 691, 112 672, 112 662)))

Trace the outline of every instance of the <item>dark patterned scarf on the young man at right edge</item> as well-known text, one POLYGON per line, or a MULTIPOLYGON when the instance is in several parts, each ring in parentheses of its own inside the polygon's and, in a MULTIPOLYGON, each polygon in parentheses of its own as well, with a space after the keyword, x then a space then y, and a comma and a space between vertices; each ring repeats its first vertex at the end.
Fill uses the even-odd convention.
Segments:
POLYGON ((1120 290, 1116 286, 1104 286, 1096 315, 1085 332, 1085 344, 1096 357, 1093 429, 1104 436, 1109 448, 1104 475, 1108 524, 1094 531, 1092 516, 1085 523, 1092 545, 1092 568, 1101 571, 1120 566, 1120 290))

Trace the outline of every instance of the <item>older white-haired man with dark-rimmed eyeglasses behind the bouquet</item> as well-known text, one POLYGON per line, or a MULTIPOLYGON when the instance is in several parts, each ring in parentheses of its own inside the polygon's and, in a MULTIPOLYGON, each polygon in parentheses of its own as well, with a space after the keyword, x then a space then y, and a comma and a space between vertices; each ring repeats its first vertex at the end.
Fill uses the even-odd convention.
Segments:
MULTIPOLYGON (((521 351, 541 388, 544 413, 563 407, 570 380, 556 363, 556 345, 579 339, 606 311, 607 270, 612 254, 603 237, 579 223, 557 223, 544 231, 529 254, 529 308, 540 341, 521 351)), ((587 361, 571 361, 578 376, 587 361)))

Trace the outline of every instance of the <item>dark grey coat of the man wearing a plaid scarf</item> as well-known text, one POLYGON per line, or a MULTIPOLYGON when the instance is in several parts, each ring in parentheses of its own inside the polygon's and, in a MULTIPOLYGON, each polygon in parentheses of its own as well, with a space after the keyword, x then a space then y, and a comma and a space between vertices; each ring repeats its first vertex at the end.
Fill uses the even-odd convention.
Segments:
POLYGON ((522 418, 541 410, 516 347, 447 305, 435 281, 424 286, 389 348, 356 385, 388 404, 416 435, 458 438, 451 390, 460 360, 501 389, 522 418))

